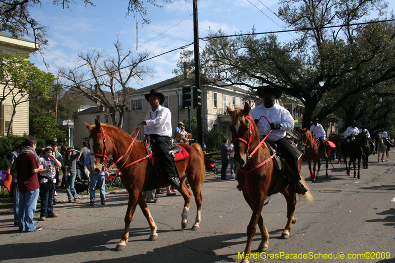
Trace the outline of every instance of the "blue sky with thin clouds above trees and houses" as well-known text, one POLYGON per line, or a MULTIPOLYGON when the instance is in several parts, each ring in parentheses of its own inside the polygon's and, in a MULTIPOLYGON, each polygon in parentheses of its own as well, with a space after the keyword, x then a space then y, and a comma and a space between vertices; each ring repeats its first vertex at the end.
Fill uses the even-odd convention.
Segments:
MULTIPOLYGON (((56 74, 57 67, 73 67, 79 51, 97 48, 112 55, 117 34, 123 48, 137 52, 136 18, 126 16, 128 0, 94 0, 95 7, 84 6, 77 0, 77 4, 71 5, 72 10, 55 6, 51 0, 41 2, 41 6, 30 11, 41 25, 48 28, 50 35, 45 51, 49 70, 40 56, 31 57, 41 70, 56 74)), ((157 2, 161 3, 160 0, 157 2)), ((390 3, 390 10, 394 6, 390 3)), ((138 51, 146 49, 154 56, 194 41, 192 0, 173 0, 173 3, 163 3, 163 8, 147 7, 151 23, 141 25, 142 19, 138 17, 138 51)), ((272 13, 277 9, 276 0, 198 0, 199 37, 207 36, 209 29, 214 32, 222 29, 226 34, 247 33, 253 26, 256 32, 280 31, 284 25, 272 13)), ((278 38, 284 41, 292 38, 291 35, 281 33, 278 38)), ((199 44, 203 46, 204 41, 200 40, 199 44)), ((143 83, 130 83, 129 86, 138 89, 174 77, 171 71, 178 59, 179 51, 174 51, 150 60, 147 65, 155 69, 155 78, 143 83)))

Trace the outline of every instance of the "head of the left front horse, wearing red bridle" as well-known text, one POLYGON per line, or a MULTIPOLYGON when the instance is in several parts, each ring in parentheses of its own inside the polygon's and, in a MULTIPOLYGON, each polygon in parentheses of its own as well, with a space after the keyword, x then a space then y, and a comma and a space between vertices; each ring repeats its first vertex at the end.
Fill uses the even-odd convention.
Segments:
POLYGON ((108 156, 114 148, 113 141, 106 131, 111 126, 101 124, 98 119, 95 119, 95 125, 89 125, 85 121, 83 123, 90 132, 88 140, 91 150, 90 167, 92 171, 100 174, 104 171, 105 164, 109 160, 108 156))

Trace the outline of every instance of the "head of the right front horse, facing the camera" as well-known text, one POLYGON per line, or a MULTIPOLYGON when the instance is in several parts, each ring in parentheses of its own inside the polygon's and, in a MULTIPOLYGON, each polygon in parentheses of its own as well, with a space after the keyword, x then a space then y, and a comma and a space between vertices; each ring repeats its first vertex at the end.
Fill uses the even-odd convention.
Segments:
POLYGON ((248 152, 253 150, 259 143, 259 134, 256 129, 254 120, 250 115, 250 105, 245 102, 244 109, 237 108, 232 110, 227 107, 228 113, 231 116, 230 130, 232 133, 232 141, 235 148, 235 163, 238 167, 244 167, 247 163, 248 152))

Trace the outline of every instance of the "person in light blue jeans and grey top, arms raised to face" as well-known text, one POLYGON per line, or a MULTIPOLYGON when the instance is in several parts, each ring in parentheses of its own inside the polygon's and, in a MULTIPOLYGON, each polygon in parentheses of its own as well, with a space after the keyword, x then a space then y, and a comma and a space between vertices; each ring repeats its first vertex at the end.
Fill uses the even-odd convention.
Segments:
POLYGON ((76 182, 77 176, 77 161, 81 156, 81 152, 79 150, 74 150, 73 148, 69 147, 66 150, 66 157, 65 157, 65 171, 66 174, 66 191, 67 197, 69 198, 69 203, 72 203, 72 199, 74 197, 74 203, 78 203, 78 195, 77 191, 74 188, 74 183, 76 182))

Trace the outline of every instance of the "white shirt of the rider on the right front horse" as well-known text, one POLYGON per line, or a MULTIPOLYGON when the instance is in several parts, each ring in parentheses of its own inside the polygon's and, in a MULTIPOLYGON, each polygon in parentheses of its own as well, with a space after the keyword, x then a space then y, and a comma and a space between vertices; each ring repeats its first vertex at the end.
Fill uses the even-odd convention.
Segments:
POLYGON ((250 112, 252 119, 259 119, 261 116, 266 116, 271 123, 279 123, 281 124, 281 128, 278 130, 273 130, 270 134, 270 126, 269 122, 265 118, 261 118, 259 121, 257 128, 259 132, 259 138, 262 140, 264 137, 269 134, 268 141, 275 142, 279 139, 285 137, 286 132, 293 129, 295 125, 295 120, 293 119, 291 113, 289 113, 286 109, 279 106, 276 102, 272 108, 266 108, 264 104, 258 105, 250 112))

